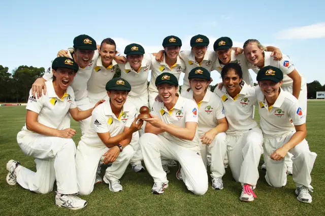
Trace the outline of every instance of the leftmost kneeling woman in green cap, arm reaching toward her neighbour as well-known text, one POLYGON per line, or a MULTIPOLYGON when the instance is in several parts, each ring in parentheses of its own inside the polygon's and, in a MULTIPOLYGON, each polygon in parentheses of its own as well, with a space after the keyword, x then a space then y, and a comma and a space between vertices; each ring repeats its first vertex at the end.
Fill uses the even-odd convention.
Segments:
MULTIPOLYGON (((26 105, 26 124, 17 135, 21 150, 35 157, 37 172, 20 165, 18 161, 7 163, 7 183, 40 194, 53 190, 56 180, 55 204, 70 209, 80 209, 87 201, 76 197, 78 193, 75 153, 72 137, 76 131, 62 129, 60 124, 69 112, 76 121, 91 116, 93 109, 79 111, 70 84, 78 71, 73 59, 58 57, 52 62, 53 80, 45 82, 47 93, 36 98, 29 93, 26 105)), ((95 106, 102 103, 99 101, 95 106)))

